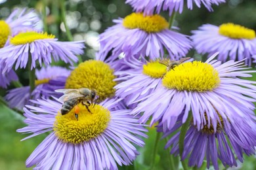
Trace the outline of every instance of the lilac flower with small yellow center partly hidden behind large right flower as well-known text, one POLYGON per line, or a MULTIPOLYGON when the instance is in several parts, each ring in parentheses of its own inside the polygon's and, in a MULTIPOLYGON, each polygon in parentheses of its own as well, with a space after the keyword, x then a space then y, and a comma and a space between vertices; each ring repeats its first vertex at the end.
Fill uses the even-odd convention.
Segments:
POLYGON ((142 62, 137 59, 131 59, 130 70, 117 71, 118 80, 123 80, 115 86, 116 95, 123 98, 127 105, 137 105, 137 102, 154 92, 158 86, 161 86, 161 78, 167 73, 167 66, 161 63, 163 60, 156 59, 142 62))

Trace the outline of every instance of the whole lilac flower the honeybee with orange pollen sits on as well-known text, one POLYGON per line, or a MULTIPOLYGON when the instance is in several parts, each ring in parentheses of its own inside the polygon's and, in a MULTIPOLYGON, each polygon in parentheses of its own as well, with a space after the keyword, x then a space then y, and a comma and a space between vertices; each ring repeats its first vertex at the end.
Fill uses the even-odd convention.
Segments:
MULTIPOLYGON (((51 131, 26 161, 35 169, 117 169, 129 165, 139 154, 133 144, 143 146, 144 127, 129 114, 130 110, 110 111, 114 103, 89 107, 81 103, 78 119, 75 110, 61 115, 61 103, 38 100, 39 107, 24 108, 27 127, 20 133, 33 133, 25 139, 51 131)), ((23 139, 24 140, 24 139, 23 139)))

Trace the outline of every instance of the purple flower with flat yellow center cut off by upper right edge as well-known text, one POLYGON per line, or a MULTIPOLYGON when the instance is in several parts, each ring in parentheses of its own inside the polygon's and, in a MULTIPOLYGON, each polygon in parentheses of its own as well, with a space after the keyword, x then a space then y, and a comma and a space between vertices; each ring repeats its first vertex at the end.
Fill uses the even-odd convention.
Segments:
POLYGON ((215 26, 205 24, 199 30, 192 31, 194 48, 198 53, 209 54, 219 52, 221 61, 241 60, 251 65, 251 56, 255 54, 255 31, 232 23, 215 26))

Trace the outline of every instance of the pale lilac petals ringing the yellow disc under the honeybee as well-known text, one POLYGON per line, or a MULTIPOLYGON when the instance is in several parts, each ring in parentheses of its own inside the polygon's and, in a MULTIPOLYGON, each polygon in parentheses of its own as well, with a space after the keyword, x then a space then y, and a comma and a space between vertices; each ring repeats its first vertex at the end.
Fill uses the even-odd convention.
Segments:
MULTIPOLYGON (((134 144, 144 145, 140 136, 146 137, 143 133, 146 129, 129 114, 130 110, 111 110, 114 103, 107 102, 102 105, 110 110, 106 129, 93 139, 76 144, 64 142, 56 135, 56 115, 62 107, 61 103, 50 99, 33 103, 39 107, 27 105, 24 108, 24 122, 28 126, 18 129, 18 132, 33 133, 25 139, 45 132, 51 133, 30 155, 26 161, 27 167, 35 165, 34 169, 117 169, 117 164, 129 165, 135 160, 139 152, 134 144)), ((74 123, 78 122, 79 119, 74 123)))

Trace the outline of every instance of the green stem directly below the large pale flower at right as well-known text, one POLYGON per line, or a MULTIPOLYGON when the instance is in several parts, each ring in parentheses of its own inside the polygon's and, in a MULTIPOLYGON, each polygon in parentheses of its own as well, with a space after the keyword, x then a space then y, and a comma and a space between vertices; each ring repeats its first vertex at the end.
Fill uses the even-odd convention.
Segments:
MULTIPOLYGON (((182 125, 181 127, 181 133, 180 133, 180 137, 179 137, 179 152, 180 152, 180 156, 181 156, 181 160, 182 160, 182 154, 183 154, 183 150, 184 150, 184 139, 186 137, 186 131, 188 130, 188 127, 190 126, 190 122, 192 120, 192 112, 190 110, 190 112, 188 112, 188 118, 186 119, 186 122, 182 125)), ((187 167, 186 163, 184 162, 184 160, 181 161, 183 168, 186 170, 187 167)))

